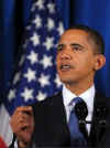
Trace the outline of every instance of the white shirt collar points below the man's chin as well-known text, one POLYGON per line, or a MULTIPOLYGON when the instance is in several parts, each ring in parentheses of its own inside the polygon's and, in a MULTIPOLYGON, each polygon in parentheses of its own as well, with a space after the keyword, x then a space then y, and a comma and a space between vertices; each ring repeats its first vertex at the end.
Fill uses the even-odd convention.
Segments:
MULTIPOLYGON (((73 98, 77 97, 74 93, 72 93, 65 85, 63 85, 63 102, 65 107, 69 105, 73 98)), ((88 88, 86 92, 79 95, 85 103, 87 104, 88 112, 92 112, 94 109, 94 98, 95 98, 95 85, 88 88)))

